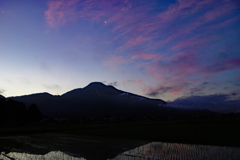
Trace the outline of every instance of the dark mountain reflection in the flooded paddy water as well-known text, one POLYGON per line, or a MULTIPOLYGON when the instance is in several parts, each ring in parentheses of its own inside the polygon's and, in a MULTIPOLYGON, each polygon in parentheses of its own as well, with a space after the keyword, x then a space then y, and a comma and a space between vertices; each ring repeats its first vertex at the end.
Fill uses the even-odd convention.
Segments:
POLYGON ((61 151, 87 160, 106 160, 147 143, 149 142, 47 133, 0 137, 0 152, 44 155, 51 151, 61 151))

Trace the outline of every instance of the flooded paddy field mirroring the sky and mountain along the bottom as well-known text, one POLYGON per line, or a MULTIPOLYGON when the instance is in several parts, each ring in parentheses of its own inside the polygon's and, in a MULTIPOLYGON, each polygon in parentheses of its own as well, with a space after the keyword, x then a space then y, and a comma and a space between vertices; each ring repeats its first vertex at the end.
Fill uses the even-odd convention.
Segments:
POLYGON ((1 137, 1 160, 239 160, 240 148, 68 134, 1 137))

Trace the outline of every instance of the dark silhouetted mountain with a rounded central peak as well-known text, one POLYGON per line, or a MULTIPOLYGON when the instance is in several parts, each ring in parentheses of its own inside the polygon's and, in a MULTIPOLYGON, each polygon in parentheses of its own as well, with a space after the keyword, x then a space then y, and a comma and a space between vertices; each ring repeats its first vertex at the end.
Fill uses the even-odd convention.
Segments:
POLYGON ((24 102, 27 107, 35 103, 43 114, 50 117, 173 116, 190 113, 189 110, 168 108, 163 100, 124 92, 100 82, 61 96, 38 93, 9 98, 24 102))

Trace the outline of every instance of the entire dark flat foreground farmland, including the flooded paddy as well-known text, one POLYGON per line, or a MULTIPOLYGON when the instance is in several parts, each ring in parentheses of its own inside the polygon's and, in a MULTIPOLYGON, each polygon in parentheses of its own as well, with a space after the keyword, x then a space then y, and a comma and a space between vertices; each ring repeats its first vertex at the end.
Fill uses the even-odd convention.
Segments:
POLYGON ((7 128, 0 135, 1 160, 240 159, 239 123, 66 124, 7 128))

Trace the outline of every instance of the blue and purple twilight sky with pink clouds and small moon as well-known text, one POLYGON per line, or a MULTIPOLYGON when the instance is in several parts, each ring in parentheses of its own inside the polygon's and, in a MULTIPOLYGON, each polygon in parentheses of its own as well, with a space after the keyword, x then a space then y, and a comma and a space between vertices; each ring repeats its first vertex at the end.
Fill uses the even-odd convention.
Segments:
POLYGON ((165 101, 236 101, 240 1, 0 0, 0 74, 5 97, 98 81, 165 101))

